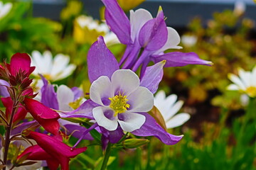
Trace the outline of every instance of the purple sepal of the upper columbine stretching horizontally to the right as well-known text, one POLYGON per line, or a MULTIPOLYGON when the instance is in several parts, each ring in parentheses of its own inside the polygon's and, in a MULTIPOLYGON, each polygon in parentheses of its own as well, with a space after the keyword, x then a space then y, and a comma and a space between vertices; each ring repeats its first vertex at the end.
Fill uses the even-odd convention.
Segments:
POLYGON ((188 64, 202 64, 211 66, 213 63, 201 60, 195 52, 169 52, 164 55, 151 56, 153 62, 166 60, 164 67, 182 67, 188 64))

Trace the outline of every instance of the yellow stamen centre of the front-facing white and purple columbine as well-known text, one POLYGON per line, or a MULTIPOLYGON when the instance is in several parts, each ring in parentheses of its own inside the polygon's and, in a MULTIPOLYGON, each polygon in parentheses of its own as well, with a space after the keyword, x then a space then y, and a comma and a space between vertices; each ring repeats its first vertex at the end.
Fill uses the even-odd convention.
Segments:
POLYGON ((124 113, 129 108, 127 96, 123 96, 121 93, 109 99, 111 101, 110 108, 114 109, 114 116, 117 116, 118 113, 124 113))

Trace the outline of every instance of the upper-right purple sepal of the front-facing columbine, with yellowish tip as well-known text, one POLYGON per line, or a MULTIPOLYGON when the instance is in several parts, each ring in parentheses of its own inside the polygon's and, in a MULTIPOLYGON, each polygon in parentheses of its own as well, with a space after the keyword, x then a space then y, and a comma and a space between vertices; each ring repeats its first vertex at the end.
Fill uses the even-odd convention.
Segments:
POLYGON ((158 62, 153 66, 146 67, 140 86, 146 87, 152 94, 156 93, 159 83, 164 75, 164 64, 165 62, 158 62))

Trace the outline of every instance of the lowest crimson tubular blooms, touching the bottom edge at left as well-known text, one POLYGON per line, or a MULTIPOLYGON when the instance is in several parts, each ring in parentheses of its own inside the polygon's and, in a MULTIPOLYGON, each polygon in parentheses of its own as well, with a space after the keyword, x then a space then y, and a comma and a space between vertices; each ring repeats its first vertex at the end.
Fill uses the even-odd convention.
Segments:
POLYGON ((36 140, 38 145, 28 147, 18 156, 31 160, 46 160, 50 169, 57 169, 60 164, 62 170, 68 170, 70 158, 85 152, 87 147, 71 148, 56 137, 45 135, 39 132, 25 131, 26 137, 36 140))

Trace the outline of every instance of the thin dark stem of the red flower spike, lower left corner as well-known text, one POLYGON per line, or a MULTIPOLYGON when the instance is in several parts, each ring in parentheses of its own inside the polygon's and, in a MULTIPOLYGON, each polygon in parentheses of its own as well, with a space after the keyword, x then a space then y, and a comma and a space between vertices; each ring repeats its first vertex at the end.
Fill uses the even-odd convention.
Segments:
MULTIPOLYGON (((6 127, 6 135, 5 135, 5 142, 4 142, 4 164, 7 164, 7 156, 8 156, 8 150, 9 150, 9 145, 11 142, 11 128, 12 128, 12 123, 14 120, 14 113, 16 112, 16 106, 18 105, 18 102, 14 100, 12 109, 11 109, 11 118, 9 121, 9 124, 6 127)), ((3 170, 6 170, 6 166, 3 168, 3 170)))

